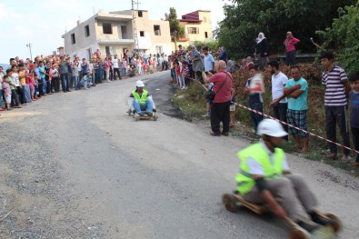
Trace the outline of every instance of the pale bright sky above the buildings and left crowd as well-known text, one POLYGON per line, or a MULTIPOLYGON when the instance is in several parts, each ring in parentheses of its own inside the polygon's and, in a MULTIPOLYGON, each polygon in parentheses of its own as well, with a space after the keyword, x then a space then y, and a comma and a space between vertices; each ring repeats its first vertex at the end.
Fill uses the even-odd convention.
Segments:
MULTIPOLYGON (((131 9, 131 0, 3 0, 0 2, 0 63, 9 58, 30 58, 29 43, 35 55, 52 55, 64 45, 61 35, 75 27, 76 21, 86 20, 98 10, 105 12, 131 9), (29 4, 31 3, 31 4, 29 4)), ((178 17, 196 10, 212 11, 213 29, 224 18, 223 6, 230 0, 139 0, 141 10, 148 10, 152 20, 165 18, 170 7, 178 17)))

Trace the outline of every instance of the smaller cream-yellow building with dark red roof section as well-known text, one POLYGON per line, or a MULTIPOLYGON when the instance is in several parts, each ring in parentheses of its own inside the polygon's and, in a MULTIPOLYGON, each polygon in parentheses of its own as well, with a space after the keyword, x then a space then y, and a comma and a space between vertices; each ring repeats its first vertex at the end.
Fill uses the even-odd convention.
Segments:
POLYGON ((211 11, 198 10, 193 13, 182 15, 179 19, 184 26, 184 37, 177 41, 177 45, 187 47, 199 42, 213 40, 211 11))

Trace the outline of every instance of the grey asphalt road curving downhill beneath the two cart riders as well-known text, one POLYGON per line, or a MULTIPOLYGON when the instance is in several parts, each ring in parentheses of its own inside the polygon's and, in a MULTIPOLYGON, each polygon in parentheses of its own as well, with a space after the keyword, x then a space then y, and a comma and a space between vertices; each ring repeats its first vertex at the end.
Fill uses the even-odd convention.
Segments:
MULTIPOLYGON (((248 141, 211 137, 205 125, 170 116, 180 113, 168 99, 169 72, 142 78, 154 94, 156 122, 125 114, 138 78, 31 105, 43 112, 41 119, 31 107, 19 111, 29 111, 27 122, 44 120, 52 129, 38 134, 52 145, 49 157, 78 204, 75 214, 100 225, 103 238, 286 238, 288 226, 275 216, 243 208, 231 214, 221 204, 221 195, 234 189, 236 152, 248 141)), ((320 162, 287 158, 311 184, 321 209, 342 218, 338 238, 358 238, 359 180, 320 162)))

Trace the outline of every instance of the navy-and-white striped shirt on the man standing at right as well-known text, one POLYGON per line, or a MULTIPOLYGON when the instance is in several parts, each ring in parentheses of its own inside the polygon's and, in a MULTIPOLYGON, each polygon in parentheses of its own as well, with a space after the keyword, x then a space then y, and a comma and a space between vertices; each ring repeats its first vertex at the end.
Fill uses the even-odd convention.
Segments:
POLYGON ((346 105, 344 82, 348 80, 344 69, 334 65, 332 71, 324 71, 322 75, 322 84, 325 85, 325 106, 343 106, 346 105))

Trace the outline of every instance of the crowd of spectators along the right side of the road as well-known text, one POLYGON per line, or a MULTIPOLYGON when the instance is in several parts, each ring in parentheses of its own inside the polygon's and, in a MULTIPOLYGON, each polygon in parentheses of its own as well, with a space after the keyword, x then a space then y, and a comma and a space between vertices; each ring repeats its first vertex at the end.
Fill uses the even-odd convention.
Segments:
MULTIPOLYGON (((220 47, 214 57, 211 49, 202 45, 201 50, 191 46, 189 51, 184 51, 179 45, 175 54, 170 56, 171 76, 173 83, 180 89, 185 89, 186 85, 193 80, 201 84, 207 84, 207 91, 214 91, 216 96, 214 100, 206 99, 206 114, 211 120, 211 135, 228 135, 229 127, 234 126, 236 121, 234 117, 234 105, 236 93, 232 87, 232 73, 234 71, 248 70, 249 79, 245 85, 244 93, 248 95, 248 106, 258 112, 263 112, 264 102, 260 93, 252 93, 249 89, 254 75, 263 70, 269 70, 272 73, 272 102, 269 107, 272 109, 274 117, 288 124, 292 124, 304 131, 307 131, 307 110, 308 110, 308 91, 309 85, 302 76, 301 68, 295 64, 295 47, 300 40, 294 38, 291 32, 287 33, 284 41, 287 52, 286 65, 291 66, 289 78, 279 70, 277 61, 267 62, 268 45, 263 33, 257 38, 257 47, 255 55, 256 64, 251 56, 241 59, 234 64, 234 61, 228 60, 225 48, 220 47), (204 72, 205 74, 201 73, 204 72), (223 88, 222 88, 223 87, 223 88), (220 123, 223 125, 220 130, 220 123)), ((343 139, 343 144, 350 147, 349 126, 346 120, 347 108, 351 106, 351 125, 355 150, 359 150, 359 74, 347 77, 344 69, 334 64, 334 53, 325 51, 321 55, 323 66, 322 83, 325 86, 324 112, 326 137, 336 142, 336 125, 343 139), (352 86, 351 83, 352 82, 352 86)), ((235 106, 235 105, 234 105, 235 106)), ((263 120, 263 116, 250 113, 256 131, 258 124, 263 120)), ((307 153, 309 150, 309 134, 297 130, 294 127, 284 125, 286 132, 289 132, 294 138, 294 149, 307 153)), ((288 141, 288 136, 284 137, 288 141)), ((330 154, 328 158, 337 159, 337 146, 328 143, 330 154)), ((350 150, 343 150, 341 160, 351 162, 349 157, 350 150)), ((352 165, 359 165, 359 154, 356 154, 356 161, 352 165)))

